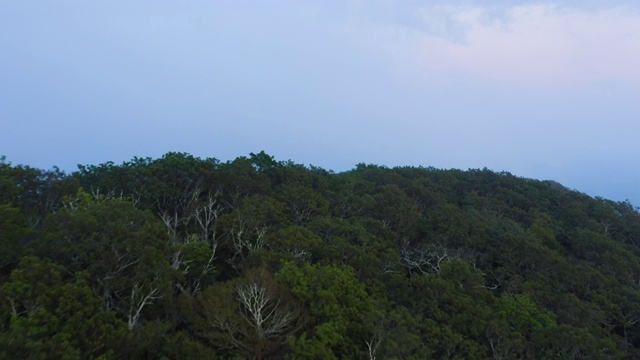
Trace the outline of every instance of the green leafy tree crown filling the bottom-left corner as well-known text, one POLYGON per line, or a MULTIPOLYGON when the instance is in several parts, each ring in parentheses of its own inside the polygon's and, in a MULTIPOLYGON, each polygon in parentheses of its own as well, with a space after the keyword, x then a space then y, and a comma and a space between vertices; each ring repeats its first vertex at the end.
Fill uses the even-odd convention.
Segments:
POLYGON ((84 274, 64 281, 62 268, 25 257, 0 287, 0 358, 99 359, 116 355, 125 323, 106 312, 84 274))

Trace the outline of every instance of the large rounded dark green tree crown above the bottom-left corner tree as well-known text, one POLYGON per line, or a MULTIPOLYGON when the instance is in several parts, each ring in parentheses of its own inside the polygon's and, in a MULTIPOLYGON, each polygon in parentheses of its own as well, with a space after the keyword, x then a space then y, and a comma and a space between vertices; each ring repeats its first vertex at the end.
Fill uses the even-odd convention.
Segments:
POLYGON ((105 310, 117 312, 130 328, 175 279, 162 224, 127 200, 79 192, 47 217, 43 231, 35 253, 65 264, 71 274, 88 272, 105 310))

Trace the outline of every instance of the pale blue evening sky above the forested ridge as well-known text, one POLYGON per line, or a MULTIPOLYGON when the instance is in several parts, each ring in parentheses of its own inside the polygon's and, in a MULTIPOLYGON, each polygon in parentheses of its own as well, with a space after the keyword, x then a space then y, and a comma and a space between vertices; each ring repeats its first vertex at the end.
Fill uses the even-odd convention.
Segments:
POLYGON ((637 1, 0 0, 14 165, 264 150, 640 205, 637 1))

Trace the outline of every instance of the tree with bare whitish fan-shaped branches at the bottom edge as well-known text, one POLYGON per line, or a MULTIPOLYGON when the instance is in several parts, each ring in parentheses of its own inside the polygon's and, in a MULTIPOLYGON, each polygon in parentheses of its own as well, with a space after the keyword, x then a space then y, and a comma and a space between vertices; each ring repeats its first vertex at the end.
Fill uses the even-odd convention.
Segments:
POLYGON ((264 268, 183 296, 182 306, 195 335, 229 357, 281 357, 299 321, 298 306, 264 268))

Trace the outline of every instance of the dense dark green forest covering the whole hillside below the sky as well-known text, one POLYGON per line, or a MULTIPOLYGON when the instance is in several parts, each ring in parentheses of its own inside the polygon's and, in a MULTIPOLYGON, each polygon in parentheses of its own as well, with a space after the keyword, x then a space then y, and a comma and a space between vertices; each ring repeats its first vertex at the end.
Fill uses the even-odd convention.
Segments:
POLYGON ((0 159, 2 359, 639 359, 640 214, 261 152, 0 159))

